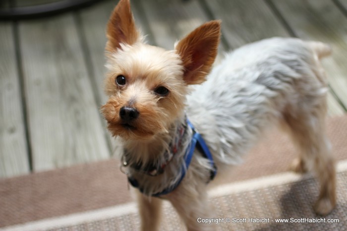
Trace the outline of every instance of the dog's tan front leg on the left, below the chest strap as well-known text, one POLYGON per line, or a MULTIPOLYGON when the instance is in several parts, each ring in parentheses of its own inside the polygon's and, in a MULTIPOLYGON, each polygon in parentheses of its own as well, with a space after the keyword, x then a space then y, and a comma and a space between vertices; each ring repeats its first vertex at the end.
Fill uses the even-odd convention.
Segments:
POLYGON ((139 212, 141 216, 141 230, 142 231, 159 230, 162 200, 156 197, 145 196, 139 191, 137 191, 137 200, 138 200, 139 212))

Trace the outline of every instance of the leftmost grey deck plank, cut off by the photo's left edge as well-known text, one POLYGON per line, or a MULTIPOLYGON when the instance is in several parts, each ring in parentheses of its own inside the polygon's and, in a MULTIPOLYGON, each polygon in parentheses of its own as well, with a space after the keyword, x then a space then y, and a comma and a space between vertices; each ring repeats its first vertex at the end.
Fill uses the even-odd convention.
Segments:
POLYGON ((29 173, 12 24, 0 23, 0 177, 29 173))

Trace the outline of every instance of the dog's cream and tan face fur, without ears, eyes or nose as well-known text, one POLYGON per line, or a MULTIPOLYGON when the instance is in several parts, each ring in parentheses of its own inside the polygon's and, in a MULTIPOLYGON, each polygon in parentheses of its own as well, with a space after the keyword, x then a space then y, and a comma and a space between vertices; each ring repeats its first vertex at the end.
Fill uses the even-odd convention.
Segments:
POLYGON ((109 101, 103 113, 113 135, 126 139, 150 139, 167 132, 167 127, 182 112, 187 86, 182 79, 179 57, 173 52, 137 43, 123 46, 109 61, 106 91, 109 101), (125 84, 116 83, 117 76, 125 77, 125 84), (168 94, 156 93, 166 88, 168 94), (119 112, 132 107, 138 118, 124 125, 119 112))

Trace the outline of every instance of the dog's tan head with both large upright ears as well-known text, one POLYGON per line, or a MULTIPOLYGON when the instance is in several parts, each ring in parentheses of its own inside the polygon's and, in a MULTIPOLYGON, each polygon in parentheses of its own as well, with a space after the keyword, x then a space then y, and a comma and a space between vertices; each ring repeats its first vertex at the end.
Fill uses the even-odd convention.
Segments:
POLYGON ((166 51, 144 43, 129 0, 119 1, 107 25, 109 100, 102 106, 114 136, 148 140, 168 132, 183 114, 188 85, 204 82, 211 69, 220 24, 207 22, 166 51))

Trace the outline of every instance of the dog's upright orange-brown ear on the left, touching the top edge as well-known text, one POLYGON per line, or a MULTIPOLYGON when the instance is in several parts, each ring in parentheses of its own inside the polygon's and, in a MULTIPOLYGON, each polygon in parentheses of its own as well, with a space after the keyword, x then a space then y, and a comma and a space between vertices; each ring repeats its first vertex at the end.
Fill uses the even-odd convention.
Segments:
POLYGON ((121 48, 120 44, 132 45, 139 40, 129 0, 120 0, 107 24, 107 52, 121 48))

